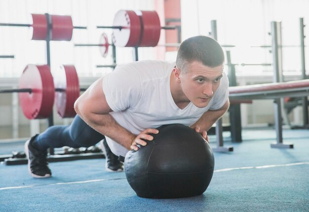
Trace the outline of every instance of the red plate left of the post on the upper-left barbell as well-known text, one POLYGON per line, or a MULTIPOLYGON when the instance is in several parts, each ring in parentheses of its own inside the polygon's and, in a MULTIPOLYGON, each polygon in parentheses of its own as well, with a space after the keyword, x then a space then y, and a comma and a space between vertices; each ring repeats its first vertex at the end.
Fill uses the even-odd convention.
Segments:
POLYGON ((44 14, 31 14, 32 16, 32 40, 46 40, 47 20, 44 14))

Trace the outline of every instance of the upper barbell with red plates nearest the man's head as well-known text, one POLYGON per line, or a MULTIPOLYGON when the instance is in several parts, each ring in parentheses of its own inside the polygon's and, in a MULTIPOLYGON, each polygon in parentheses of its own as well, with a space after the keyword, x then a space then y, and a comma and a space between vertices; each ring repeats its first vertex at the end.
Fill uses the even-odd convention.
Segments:
POLYGON ((119 47, 154 47, 161 29, 174 30, 177 26, 161 27, 156 11, 119 10, 113 26, 97 26, 98 29, 113 29, 112 41, 119 47))

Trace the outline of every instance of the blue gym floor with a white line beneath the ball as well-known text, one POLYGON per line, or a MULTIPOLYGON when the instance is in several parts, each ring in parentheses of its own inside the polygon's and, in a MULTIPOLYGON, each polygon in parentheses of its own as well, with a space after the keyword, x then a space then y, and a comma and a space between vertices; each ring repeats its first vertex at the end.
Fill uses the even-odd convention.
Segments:
MULTIPOLYGON (((209 187, 191 198, 137 197, 124 173, 105 171, 105 159, 50 163, 53 177, 45 179, 30 177, 26 165, 0 164, 0 212, 309 212, 309 130, 283 130, 294 149, 270 148, 273 129, 242 136, 230 143, 224 133, 234 151, 214 153, 209 187)), ((0 143, 0 154, 7 148, 0 143)))

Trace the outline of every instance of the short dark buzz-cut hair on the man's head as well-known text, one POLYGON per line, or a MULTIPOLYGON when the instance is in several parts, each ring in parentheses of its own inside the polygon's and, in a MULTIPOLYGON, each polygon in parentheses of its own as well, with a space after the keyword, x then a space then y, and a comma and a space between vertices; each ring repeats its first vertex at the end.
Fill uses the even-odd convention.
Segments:
POLYGON ((186 64, 193 61, 211 68, 217 67, 224 62, 224 52, 220 44, 211 37, 203 35, 190 37, 179 46, 176 67, 183 70, 186 64))

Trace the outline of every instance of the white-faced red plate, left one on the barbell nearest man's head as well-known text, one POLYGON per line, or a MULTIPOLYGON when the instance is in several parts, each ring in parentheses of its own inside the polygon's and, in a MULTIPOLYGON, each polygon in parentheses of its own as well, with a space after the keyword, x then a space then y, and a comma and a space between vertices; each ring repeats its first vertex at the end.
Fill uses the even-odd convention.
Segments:
POLYGON ((119 10, 113 26, 122 27, 121 30, 113 30, 113 43, 120 47, 137 46, 141 35, 141 21, 133 10, 119 10))

